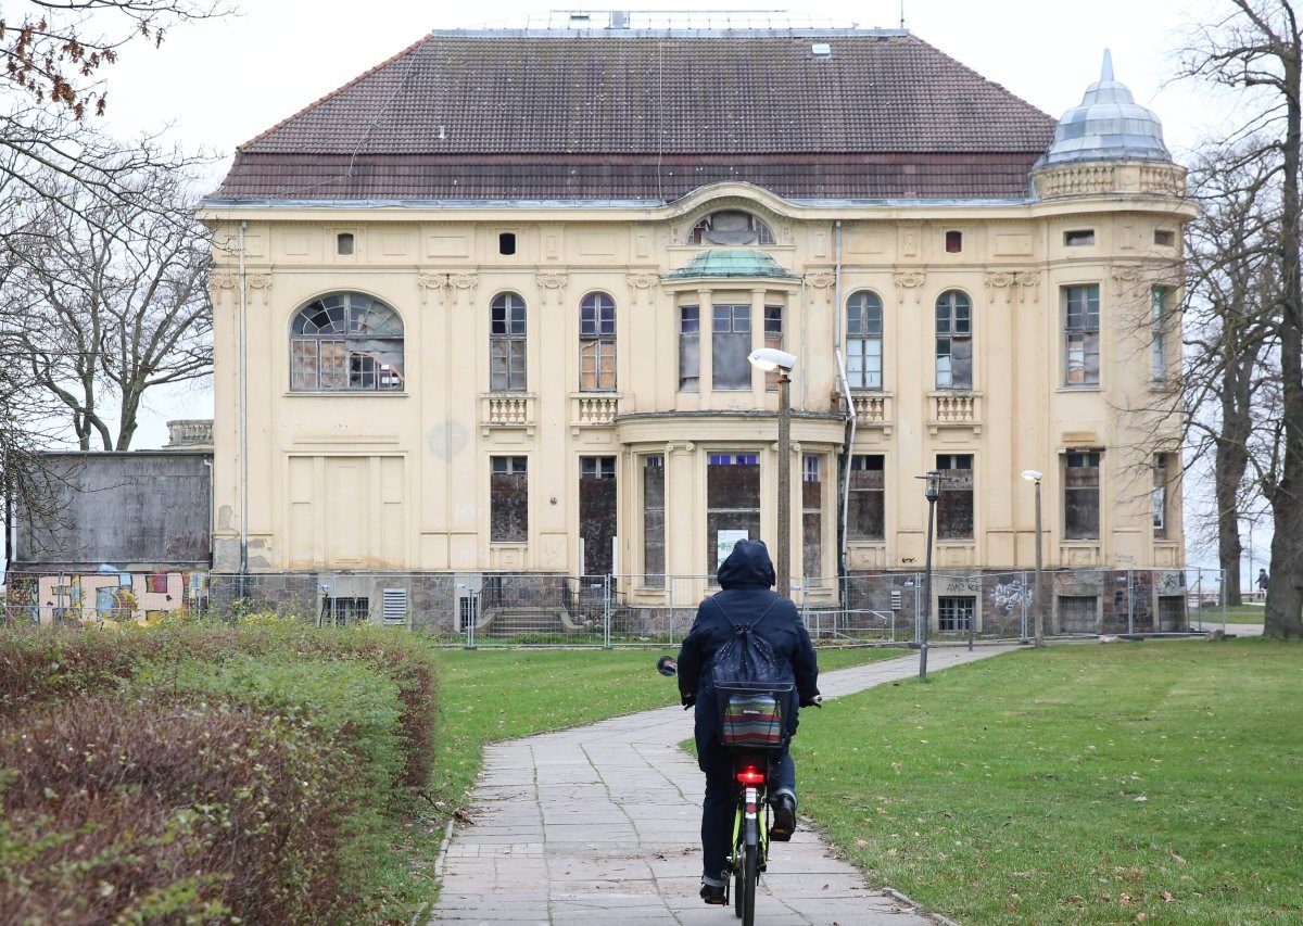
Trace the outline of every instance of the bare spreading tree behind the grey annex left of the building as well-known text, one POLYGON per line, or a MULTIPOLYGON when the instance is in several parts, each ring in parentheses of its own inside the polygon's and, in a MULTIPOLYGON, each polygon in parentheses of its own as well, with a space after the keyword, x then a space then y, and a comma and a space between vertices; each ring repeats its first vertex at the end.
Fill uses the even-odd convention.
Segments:
POLYGON ((3 290, 0 324, 83 451, 129 449, 146 392, 212 366, 207 232, 189 188, 159 168, 120 180, 129 195, 112 202, 65 182, 16 233, 3 290))

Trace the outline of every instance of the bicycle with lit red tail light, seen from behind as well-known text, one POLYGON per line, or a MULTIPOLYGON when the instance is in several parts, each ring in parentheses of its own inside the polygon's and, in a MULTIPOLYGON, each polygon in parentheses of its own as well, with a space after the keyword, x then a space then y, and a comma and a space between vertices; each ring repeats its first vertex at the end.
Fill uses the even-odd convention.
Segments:
MULTIPOLYGON (((672 656, 661 656, 657 660, 657 671, 665 676, 674 676, 678 673, 679 666, 672 656)), ((761 697, 764 695, 761 694, 761 697)), ((821 707, 822 698, 816 697, 801 706, 821 707)), ((757 715, 756 723, 766 724, 769 719, 757 715)), ((766 748, 731 746, 728 749, 732 757, 732 778, 736 787, 734 792, 732 852, 728 857, 728 865, 723 870, 724 905, 727 906, 730 903, 731 886, 734 913, 743 921, 743 926, 754 926, 756 886, 761 873, 769 867, 770 832, 774 827, 773 806, 769 802, 769 779, 774 761, 780 755, 780 746, 782 742, 778 741, 766 748)))

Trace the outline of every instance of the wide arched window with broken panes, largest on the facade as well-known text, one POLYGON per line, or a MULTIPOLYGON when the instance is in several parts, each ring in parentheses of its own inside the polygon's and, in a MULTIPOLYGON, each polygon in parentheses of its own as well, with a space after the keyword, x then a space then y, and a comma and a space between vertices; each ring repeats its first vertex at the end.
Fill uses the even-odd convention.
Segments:
POLYGON ((401 389, 403 319, 365 293, 330 293, 294 314, 291 392, 401 389))

